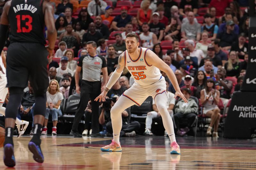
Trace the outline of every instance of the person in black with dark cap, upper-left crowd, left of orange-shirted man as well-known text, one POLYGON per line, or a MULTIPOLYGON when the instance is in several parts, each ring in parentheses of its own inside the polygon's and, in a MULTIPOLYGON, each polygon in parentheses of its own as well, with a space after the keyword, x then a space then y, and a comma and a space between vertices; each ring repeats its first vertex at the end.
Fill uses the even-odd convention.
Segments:
POLYGON ((81 9, 81 11, 78 14, 78 18, 76 19, 76 22, 80 22, 81 28, 83 30, 87 30, 89 24, 93 22, 93 19, 91 18, 90 14, 88 14, 86 7, 83 7, 81 9))

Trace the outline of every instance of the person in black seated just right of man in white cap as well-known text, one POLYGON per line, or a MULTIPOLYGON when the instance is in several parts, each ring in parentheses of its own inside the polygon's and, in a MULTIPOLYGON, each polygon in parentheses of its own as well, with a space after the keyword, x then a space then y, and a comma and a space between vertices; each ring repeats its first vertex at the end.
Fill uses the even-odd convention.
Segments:
POLYGON ((168 26, 165 27, 165 36, 164 40, 173 41, 173 39, 180 40, 180 25, 176 18, 172 17, 171 22, 168 26))

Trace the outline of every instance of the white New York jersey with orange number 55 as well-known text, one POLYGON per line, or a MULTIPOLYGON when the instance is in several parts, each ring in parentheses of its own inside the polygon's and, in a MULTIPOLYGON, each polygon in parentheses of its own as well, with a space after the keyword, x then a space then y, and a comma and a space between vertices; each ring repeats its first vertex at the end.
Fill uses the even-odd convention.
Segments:
POLYGON ((160 70, 153 65, 148 65, 145 55, 148 48, 140 48, 140 55, 136 60, 132 60, 128 51, 124 52, 124 66, 129 70, 135 83, 141 86, 151 85, 162 78, 160 70))

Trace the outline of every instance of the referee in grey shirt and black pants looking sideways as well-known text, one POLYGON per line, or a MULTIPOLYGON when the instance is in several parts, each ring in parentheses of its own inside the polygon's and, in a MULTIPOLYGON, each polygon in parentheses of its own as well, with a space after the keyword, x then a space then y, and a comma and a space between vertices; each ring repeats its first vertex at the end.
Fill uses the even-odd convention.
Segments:
POLYGON ((86 49, 88 55, 81 56, 76 66, 76 92, 80 93, 80 101, 76 109, 75 119, 72 125, 70 135, 73 137, 82 137, 78 133, 78 124, 84 115, 84 110, 89 99, 92 99, 92 134, 91 137, 103 137, 99 133, 99 102, 94 99, 105 89, 108 81, 108 71, 105 58, 96 54, 97 44, 94 41, 88 41, 86 49), (102 69, 103 83, 100 82, 100 72, 102 69), (82 73, 82 84, 79 86, 80 72, 82 73))

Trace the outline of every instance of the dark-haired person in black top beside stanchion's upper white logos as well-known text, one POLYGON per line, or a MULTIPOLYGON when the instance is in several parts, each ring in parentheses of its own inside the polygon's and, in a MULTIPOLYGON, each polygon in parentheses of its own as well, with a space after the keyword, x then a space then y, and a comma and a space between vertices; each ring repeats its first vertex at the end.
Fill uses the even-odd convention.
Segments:
POLYGON ((236 51, 239 59, 244 60, 244 55, 248 51, 248 43, 246 41, 246 36, 244 33, 241 33, 238 36, 238 41, 234 42, 231 46, 230 51, 236 51))

